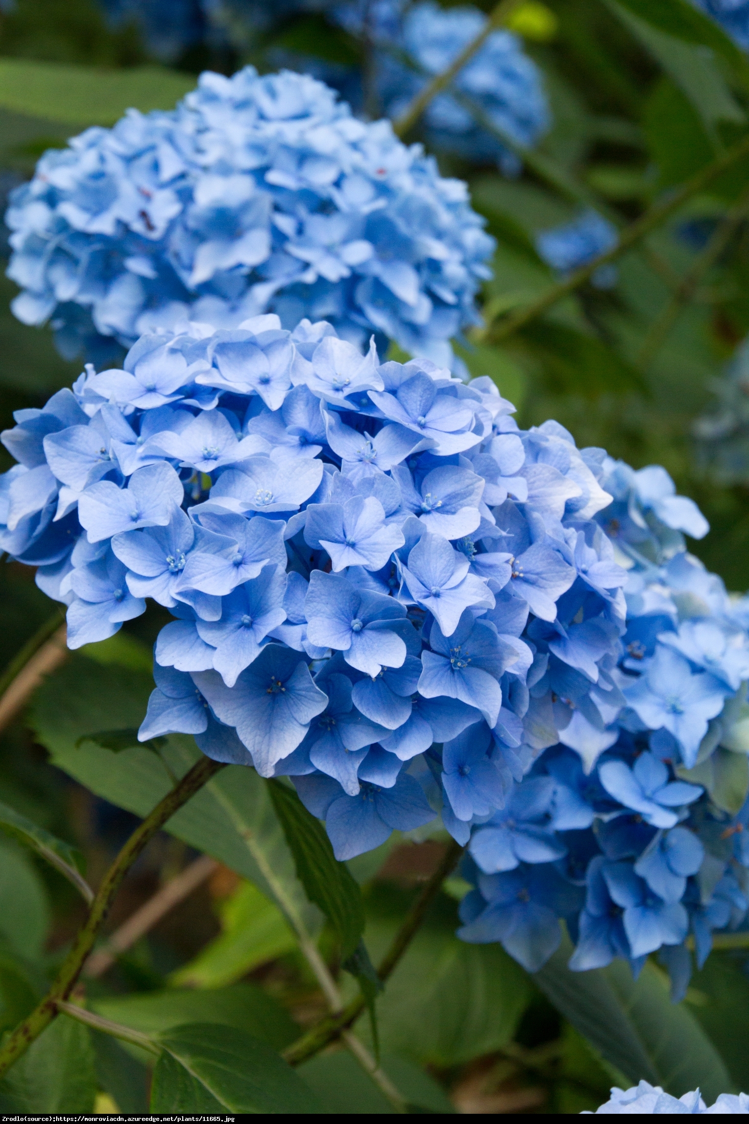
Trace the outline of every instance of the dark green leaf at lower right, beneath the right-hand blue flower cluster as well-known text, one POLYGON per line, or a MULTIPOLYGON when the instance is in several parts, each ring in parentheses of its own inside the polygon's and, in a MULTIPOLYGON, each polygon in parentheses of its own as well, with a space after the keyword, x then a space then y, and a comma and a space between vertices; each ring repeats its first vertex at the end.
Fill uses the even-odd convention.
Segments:
POLYGON ((694 1015, 672 1004, 668 980, 652 963, 639 979, 616 960, 573 972, 567 939, 533 981, 606 1061, 634 1085, 641 1078, 681 1097, 696 1086, 707 1103, 730 1087, 725 1064, 694 1015))

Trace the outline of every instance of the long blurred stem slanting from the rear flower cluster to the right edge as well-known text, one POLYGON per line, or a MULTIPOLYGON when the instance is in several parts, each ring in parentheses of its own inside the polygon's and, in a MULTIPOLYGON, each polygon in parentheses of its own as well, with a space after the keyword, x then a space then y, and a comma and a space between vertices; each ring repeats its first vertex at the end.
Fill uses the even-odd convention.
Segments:
POLYGON ((723 172, 725 172, 732 164, 740 160, 742 156, 749 154, 749 136, 743 137, 738 144, 732 148, 729 148, 724 155, 720 156, 707 167, 704 167, 696 175, 693 175, 691 180, 687 180, 685 184, 678 188, 676 191, 669 192, 667 198, 663 202, 657 203, 651 207, 650 210, 643 215, 641 218, 637 219, 625 230, 622 232, 619 242, 611 250, 606 251, 604 254, 599 254, 593 261, 588 262, 587 265, 582 265, 578 270, 575 270, 569 274, 564 281, 560 281, 556 285, 551 285, 538 300, 535 300, 531 305, 514 312, 499 325, 496 328, 487 326, 482 333, 483 336, 488 336, 492 343, 499 343, 502 339, 506 339, 513 333, 518 332, 519 328, 524 327, 531 320, 535 320, 537 316, 541 316, 554 307, 558 301, 564 300, 565 297, 569 297, 579 285, 584 284, 591 279, 591 277, 600 270, 602 265, 608 265, 610 262, 615 262, 622 254, 625 254, 628 250, 631 250, 638 242, 655 230, 658 226, 666 221, 675 211, 684 206, 693 196, 697 194, 709 183, 718 179, 723 172))

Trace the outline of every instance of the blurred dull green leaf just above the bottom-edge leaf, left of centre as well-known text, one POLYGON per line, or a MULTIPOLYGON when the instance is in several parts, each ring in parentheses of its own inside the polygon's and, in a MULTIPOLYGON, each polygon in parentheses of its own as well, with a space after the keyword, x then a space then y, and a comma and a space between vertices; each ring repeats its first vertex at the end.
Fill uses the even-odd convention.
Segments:
POLYGON ((112 996, 94 999, 90 1006, 95 1014, 145 1034, 183 1023, 220 1023, 247 1031, 273 1050, 283 1050, 299 1036, 299 1027, 286 1010, 253 984, 112 996))

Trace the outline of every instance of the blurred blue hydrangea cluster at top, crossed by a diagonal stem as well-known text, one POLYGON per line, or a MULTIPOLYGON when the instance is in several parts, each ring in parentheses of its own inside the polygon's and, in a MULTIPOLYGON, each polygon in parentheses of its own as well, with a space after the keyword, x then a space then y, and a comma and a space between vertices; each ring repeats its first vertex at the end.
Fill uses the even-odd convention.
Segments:
MULTIPOLYGON (((432 0, 409 7, 398 38, 380 40, 377 92, 389 117, 398 118, 435 74, 447 70, 486 19, 477 8, 444 9, 432 0)), ((550 125, 541 75, 518 37, 493 31, 451 90, 430 102, 423 124, 433 147, 518 174, 512 143, 532 147, 550 125)))

